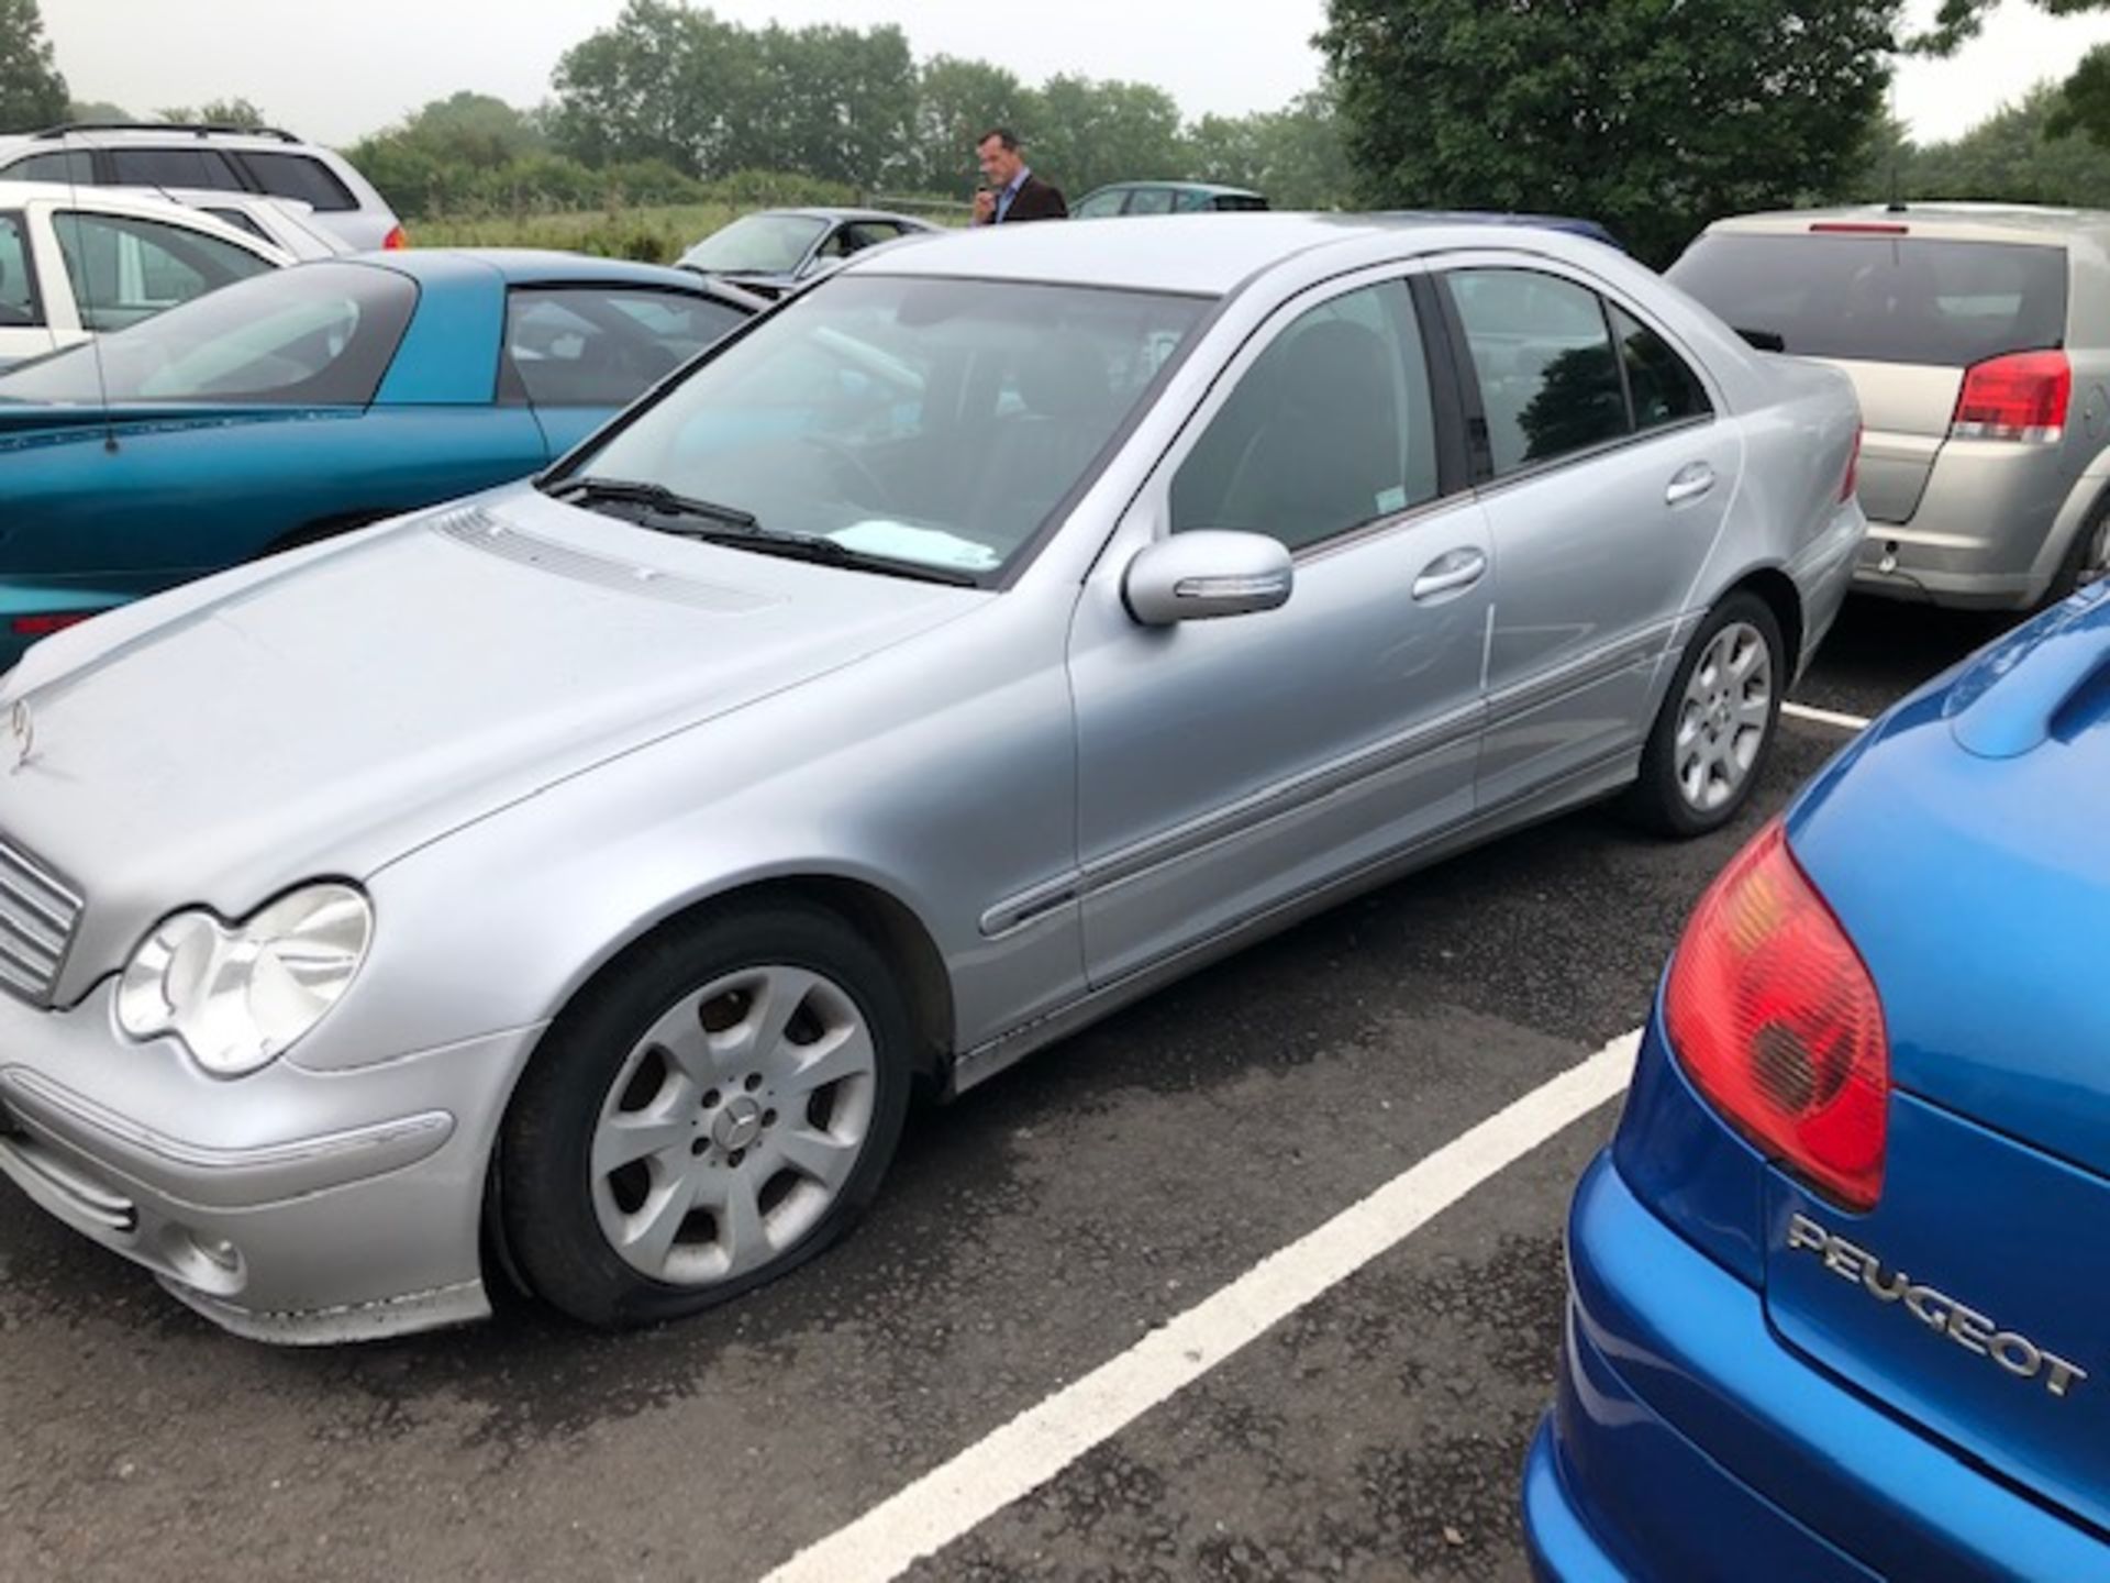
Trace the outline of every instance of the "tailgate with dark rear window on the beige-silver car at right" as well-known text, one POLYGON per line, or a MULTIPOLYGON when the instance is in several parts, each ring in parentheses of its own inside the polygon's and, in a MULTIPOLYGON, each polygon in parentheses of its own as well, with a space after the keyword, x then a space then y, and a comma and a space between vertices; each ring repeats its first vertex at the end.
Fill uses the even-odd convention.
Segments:
POLYGON ((2061 247, 1916 236, 1891 222, 1709 232, 1669 274, 1737 329, 1853 378, 1867 426, 1861 509, 1891 526, 1920 507, 1964 371, 2064 342, 2066 276, 2061 247))

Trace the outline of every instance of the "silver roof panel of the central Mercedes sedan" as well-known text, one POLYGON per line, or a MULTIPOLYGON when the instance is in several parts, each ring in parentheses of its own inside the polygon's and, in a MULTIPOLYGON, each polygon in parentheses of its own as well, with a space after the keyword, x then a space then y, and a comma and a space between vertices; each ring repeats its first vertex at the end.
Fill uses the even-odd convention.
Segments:
POLYGON ((1142 215, 1118 226, 979 226, 852 258, 848 274, 920 274, 1226 295, 1291 258, 1331 253, 1342 270, 1390 258, 1534 247, 1593 262, 1610 249, 1549 228, 1289 211, 1142 215), (1585 251, 1587 249, 1587 251, 1585 251))

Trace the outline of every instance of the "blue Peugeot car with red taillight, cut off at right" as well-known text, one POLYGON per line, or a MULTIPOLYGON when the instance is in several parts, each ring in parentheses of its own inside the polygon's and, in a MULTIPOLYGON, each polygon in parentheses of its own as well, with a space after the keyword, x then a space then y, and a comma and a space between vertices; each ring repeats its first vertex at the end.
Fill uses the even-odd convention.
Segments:
POLYGON ((2110 1579, 2110 585, 1713 882, 1568 1228, 1547 1579, 2110 1579))

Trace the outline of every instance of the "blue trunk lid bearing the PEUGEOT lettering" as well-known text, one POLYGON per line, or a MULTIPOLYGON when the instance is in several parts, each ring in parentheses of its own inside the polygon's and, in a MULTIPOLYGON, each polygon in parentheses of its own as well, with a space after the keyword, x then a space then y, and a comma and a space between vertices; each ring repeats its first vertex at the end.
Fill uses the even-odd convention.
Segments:
POLYGON ((1884 1005, 1884 1186, 1775 1176, 1785 1340, 2110 1530, 2110 597, 1891 716, 1789 819, 1884 1005))

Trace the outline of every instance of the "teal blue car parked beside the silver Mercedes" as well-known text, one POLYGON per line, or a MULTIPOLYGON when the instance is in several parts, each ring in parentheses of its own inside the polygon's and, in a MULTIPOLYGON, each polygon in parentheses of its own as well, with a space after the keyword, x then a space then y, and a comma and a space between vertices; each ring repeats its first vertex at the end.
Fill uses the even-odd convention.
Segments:
POLYGON ((127 599, 534 473, 760 306, 650 264, 395 251, 8 369, 0 671, 127 599))

